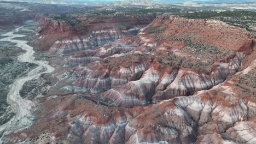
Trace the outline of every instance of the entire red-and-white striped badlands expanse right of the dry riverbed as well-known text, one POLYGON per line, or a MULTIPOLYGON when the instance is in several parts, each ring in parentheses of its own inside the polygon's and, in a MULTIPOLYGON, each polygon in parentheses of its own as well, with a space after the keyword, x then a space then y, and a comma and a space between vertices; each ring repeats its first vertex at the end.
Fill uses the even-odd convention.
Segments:
POLYGON ((40 27, 38 49, 64 60, 46 75, 38 119, 5 143, 256 143, 255 34, 213 20, 125 17, 120 29, 121 17, 103 18, 40 27))

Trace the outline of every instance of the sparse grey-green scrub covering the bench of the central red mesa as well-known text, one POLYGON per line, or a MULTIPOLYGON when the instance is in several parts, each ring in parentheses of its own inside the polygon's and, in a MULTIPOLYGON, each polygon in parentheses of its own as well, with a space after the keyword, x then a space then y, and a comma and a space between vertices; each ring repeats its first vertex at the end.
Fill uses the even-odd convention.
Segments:
MULTIPOLYGON (((196 69, 196 70, 205 70, 210 71, 212 68, 212 65, 216 61, 220 61, 221 59, 226 59, 230 55, 234 55, 234 52, 225 49, 225 48, 218 48, 216 46, 210 45, 210 44, 201 44, 196 43, 194 41, 191 41, 191 38, 184 37, 184 38, 177 38, 177 37, 166 37, 164 35, 166 27, 165 26, 158 26, 158 27, 149 27, 146 29, 147 34, 145 35, 152 35, 155 40, 158 40, 158 46, 161 45, 161 41, 177 41, 179 43, 185 43, 187 46, 185 46, 183 49, 181 49, 181 52, 184 53, 190 53, 191 55, 196 56, 198 59, 191 59, 191 58, 182 58, 182 57, 176 57, 175 55, 168 54, 170 56, 163 55, 162 61, 160 63, 164 65, 172 65, 173 67, 185 67, 190 69, 196 69), (172 59, 174 57, 174 59, 172 59), (176 62, 172 62, 176 61, 176 62), (193 63, 191 63, 191 61, 193 63)), ((160 58, 161 59, 161 58, 160 58)))

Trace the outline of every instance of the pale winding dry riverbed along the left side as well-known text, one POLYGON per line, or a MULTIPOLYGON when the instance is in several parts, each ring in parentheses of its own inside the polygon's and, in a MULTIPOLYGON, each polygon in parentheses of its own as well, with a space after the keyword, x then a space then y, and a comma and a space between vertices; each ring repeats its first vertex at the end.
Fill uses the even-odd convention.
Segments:
MULTIPOLYGON (((24 83, 32 79, 38 79, 38 77, 42 74, 51 73, 54 71, 54 68, 48 65, 48 62, 36 61, 34 59, 34 50, 33 47, 27 45, 28 41, 15 39, 26 36, 21 34, 14 34, 15 32, 19 32, 20 29, 23 27, 24 26, 16 28, 14 31, 3 34, 5 38, 0 39, 0 41, 10 41, 11 43, 16 43, 15 46, 20 47, 22 50, 26 51, 26 53, 18 57, 18 60, 21 62, 37 64, 38 67, 31 70, 26 76, 16 79, 14 83, 10 86, 10 90, 7 96, 7 102, 11 106, 11 110, 13 110, 15 116, 8 123, 0 126, 0 132, 5 131, 3 136, 12 133, 13 131, 30 126, 34 119, 31 114, 34 103, 30 100, 22 99, 19 94, 19 91, 24 83), (43 71, 42 69, 45 70, 43 71)), ((0 142, 2 143, 3 140, 1 139, 0 142)))

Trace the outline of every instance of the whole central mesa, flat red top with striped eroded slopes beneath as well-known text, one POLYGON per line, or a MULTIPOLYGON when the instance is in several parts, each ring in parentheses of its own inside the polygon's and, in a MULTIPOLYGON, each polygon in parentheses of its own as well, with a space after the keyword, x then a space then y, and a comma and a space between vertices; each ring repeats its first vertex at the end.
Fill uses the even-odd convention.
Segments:
POLYGON ((253 47, 253 35, 242 28, 159 16, 135 36, 68 56, 59 93, 92 93, 109 106, 147 106, 224 82, 253 47))

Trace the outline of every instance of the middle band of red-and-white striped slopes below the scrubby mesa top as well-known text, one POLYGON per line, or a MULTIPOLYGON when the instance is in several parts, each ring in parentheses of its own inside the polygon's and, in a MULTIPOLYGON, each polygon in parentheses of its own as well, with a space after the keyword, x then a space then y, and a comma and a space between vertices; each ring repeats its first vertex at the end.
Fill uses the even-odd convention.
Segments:
POLYGON ((80 60, 76 59, 76 64, 81 61, 88 64, 80 64, 78 68, 65 74, 68 78, 63 82, 78 78, 72 87, 66 86, 63 89, 70 89, 72 93, 101 93, 109 89, 101 94, 101 99, 108 101, 109 105, 148 105, 164 99, 191 95, 218 85, 226 77, 236 73, 242 57, 242 53, 237 52, 226 59, 226 62, 212 66, 214 70, 211 73, 161 65, 148 55, 131 54, 107 59, 78 58, 80 60))

